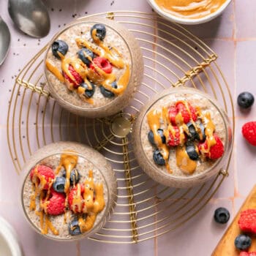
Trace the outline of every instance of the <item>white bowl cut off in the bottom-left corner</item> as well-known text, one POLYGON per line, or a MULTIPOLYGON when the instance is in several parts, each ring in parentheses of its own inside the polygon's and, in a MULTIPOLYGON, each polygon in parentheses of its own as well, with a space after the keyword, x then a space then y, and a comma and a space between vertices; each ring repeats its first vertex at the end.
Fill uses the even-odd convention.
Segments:
POLYGON ((18 236, 13 227, 0 217, 0 255, 22 256, 18 236))

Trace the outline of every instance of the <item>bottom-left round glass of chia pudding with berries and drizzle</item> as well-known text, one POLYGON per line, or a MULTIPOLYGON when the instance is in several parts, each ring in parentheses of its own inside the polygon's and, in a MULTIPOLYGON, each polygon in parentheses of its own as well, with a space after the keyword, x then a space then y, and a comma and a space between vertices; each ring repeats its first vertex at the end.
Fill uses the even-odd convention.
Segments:
POLYGON ((79 143, 40 148, 23 167, 21 204, 43 236, 74 240, 96 233, 116 200, 116 176, 101 154, 79 143))

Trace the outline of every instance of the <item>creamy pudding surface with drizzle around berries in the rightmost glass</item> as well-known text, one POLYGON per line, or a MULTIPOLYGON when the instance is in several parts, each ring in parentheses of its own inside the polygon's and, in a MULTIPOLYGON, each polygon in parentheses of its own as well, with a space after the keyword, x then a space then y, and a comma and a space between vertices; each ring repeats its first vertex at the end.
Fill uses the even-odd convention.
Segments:
MULTIPOLYGON (((175 93, 167 94, 157 102, 154 102, 154 104, 151 105, 151 108, 147 111, 146 115, 143 117, 140 129, 141 146, 143 148, 144 154, 147 157, 147 161, 151 162, 151 165, 157 168, 157 170, 160 172, 169 173, 170 176, 190 177, 199 173, 203 173, 205 170, 214 165, 216 160, 208 159, 205 157, 200 157, 200 159, 197 159, 196 161, 189 159, 184 146, 182 146, 182 144, 184 144, 187 140, 187 135, 185 132, 182 134, 180 132, 178 138, 179 143, 176 144, 176 146, 167 146, 167 138, 169 136, 169 132, 175 135, 176 130, 172 130, 172 126, 170 126, 170 128, 168 126, 168 129, 166 129, 166 120, 162 116, 165 116, 167 109, 170 108, 171 105, 179 101, 184 102, 184 104, 185 102, 188 102, 189 105, 194 106, 197 110, 200 110, 199 112, 202 120, 203 118, 207 117, 207 120, 205 119, 204 121, 207 123, 205 127, 208 127, 207 129, 210 131, 210 133, 214 130, 214 134, 217 135, 225 145, 225 122, 219 113, 219 110, 217 110, 217 108, 208 99, 202 97, 200 94, 175 93), (159 145, 159 150, 165 159, 165 165, 156 165, 153 159, 153 153, 156 147, 152 146, 148 140, 148 132, 154 129, 155 124, 157 124, 155 129, 163 129, 165 133, 166 143, 162 143, 160 137, 156 138, 156 136, 154 136, 155 140, 159 140, 157 144, 159 145)), ((181 118, 179 114, 176 116, 176 121, 178 121, 178 118, 181 118)), ((179 129, 180 131, 184 131, 184 129, 186 129, 186 125, 182 124, 179 129)), ((156 134, 156 132, 154 132, 154 134, 156 134)), ((202 135, 200 135, 200 137, 201 136, 202 135)), ((214 138, 211 138, 211 140, 214 140, 214 138)), ((208 145, 210 143, 211 142, 209 142, 208 145)))

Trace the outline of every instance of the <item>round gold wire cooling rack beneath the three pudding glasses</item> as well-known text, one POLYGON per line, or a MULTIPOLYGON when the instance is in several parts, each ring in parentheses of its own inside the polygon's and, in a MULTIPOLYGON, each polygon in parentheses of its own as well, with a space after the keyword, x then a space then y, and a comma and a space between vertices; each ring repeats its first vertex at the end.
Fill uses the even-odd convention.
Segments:
POLYGON ((130 143, 131 124, 140 108, 169 86, 192 86, 218 99, 234 128, 233 101, 217 65, 217 54, 182 26, 143 12, 91 16, 114 18, 138 39, 145 69, 135 98, 110 118, 82 118, 61 109, 50 97, 43 75, 46 45, 15 81, 7 116, 8 146, 17 173, 37 148, 51 142, 76 140, 97 148, 116 171, 118 199, 105 227, 91 239, 133 244, 191 221, 217 192, 229 165, 211 181, 194 188, 175 189, 152 181, 138 166, 130 143))

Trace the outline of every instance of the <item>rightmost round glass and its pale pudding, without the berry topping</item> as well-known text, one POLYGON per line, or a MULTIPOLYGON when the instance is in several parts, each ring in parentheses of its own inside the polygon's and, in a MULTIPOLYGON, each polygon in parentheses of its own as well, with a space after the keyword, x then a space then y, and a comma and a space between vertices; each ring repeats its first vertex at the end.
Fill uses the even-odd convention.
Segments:
MULTIPOLYGON (((160 124, 163 127, 164 124, 162 120, 163 119, 161 117, 160 124)), ((199 121, 199 118, 197 121, 199 121)), ((163 129, 162 127, 161 129, 163 129)), ((186 127, 187 125, 185 124, 184 129, 186 129, 186 127)), ((206 127, 206 124, 204 124, 204 127, 206 127)), ((169 129, 167 130, 169 131, 169 129)), ((169 136, 170 133, 165 135, 169 136)), ((165 136, 165 138, 167 136, 165 136)), ((185 137, 185 141, 187 140, 188 143, 189 136, 185 136, 187 136, 185 137)), ((209 178, 217 174, 222 169, 222 167, 225 166, 225 163, 230 156, 232 140, 232 129, 230 127, 227 114, 224 110, 222 110, 222 108, 220 108, 218 102, 215 99, 212 99, 208 94, 205 94, 197 89, 191 89, 187 87, 166 89, 165 91, 162 91, 161 94, 153 97, 150 102, 148 102, 148 104, 146 104, 140 111, 140 115, 136 119, 132 128, 132 145, 134 148, 135 157, 137 158, 140 167, 142 167, 148 176, 153 178, 155 181, 158 181, 160 184, 168 187, 193 187, 197 184, 207 181, 209 178), (155 164, 153 159, 153 152, 156 149, 156 146, 153 146, 148 140, 148 132, 150 132, 150 128, 148 125, 147 115, 149 111, 162 111, 163 107, 168 108, 170 105, 173 105, 178 101, 189 102, 189 104, 194 106, 194 108, 197 110, 200 109, 200 112, 203 113, 203 115, 205 115, 207 112, 210 113, 210 119, 215 125, 214 133, 222 140, 222 143, 224 144, 224 154, 222 154, 222 157, 214 160, 208 158, 197 159, 195 171, 191 173, 187 171, 184 172, 184 170, 182 170, 182 166, 190 166, 188 165, 188 162, 190 161, 189 158, 185 157, 187 155, 182 155, 181 162, 178 163, 178 157, 176 156, 181 156, 180 153, 182 153, 180 151, 182 148, 180 145, 176 147, 167 146, 167 151, 169 152, 168 164, 170 166, 170 170, 168 172, 167 166, 165 165, 166 162, 164 165, 155 164), (179 153, 177 154, 177 152, 179 153)), ((193 141, 193 143, 199 144, 197 140, 195 140, 195 142, 193 141)), ((195 165, 194 161, 192 164, 195 165)))

